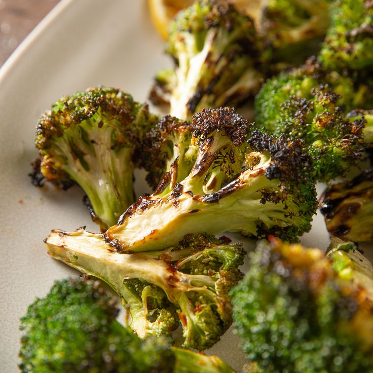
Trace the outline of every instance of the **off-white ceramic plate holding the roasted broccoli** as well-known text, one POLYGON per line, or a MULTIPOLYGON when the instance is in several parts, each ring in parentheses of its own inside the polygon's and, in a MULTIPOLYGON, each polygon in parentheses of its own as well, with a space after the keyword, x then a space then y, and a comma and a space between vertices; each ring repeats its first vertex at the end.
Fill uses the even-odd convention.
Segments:
MULTIPOLYGON (((0 370, 17 372, 19 318, 55 279, 77 275, 46 254, 52 228, 96 231, 81 203, 82 192, 34 188, 30 162, 40 114, 62 95, 101 85, 120 87, 138 101, 152 78, 170 65, 145 1, 63 0, 28 36, 0 70, 0 370)), ((143 192, 141 177, 138 192, 143 192)), ((236 239, 243 240, 236 236, 236 239)), ((322 217, 303 243, 326 248, 322 217)), ((250 247, 252 243, 246 242, 250 247)), ((238 371, 245 361, 229 330, 208 353, 238 371)))

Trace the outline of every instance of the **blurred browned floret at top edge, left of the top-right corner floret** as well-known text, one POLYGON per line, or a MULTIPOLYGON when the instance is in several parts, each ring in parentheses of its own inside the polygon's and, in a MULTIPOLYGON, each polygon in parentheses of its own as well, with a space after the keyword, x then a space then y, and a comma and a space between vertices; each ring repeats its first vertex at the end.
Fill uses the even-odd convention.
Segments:
POLYGON ((316 54, 329 27, 331 0, 269 0, 263 8, 259 34, 266 43, 266 62, 282 68, 300 65, 316 54))

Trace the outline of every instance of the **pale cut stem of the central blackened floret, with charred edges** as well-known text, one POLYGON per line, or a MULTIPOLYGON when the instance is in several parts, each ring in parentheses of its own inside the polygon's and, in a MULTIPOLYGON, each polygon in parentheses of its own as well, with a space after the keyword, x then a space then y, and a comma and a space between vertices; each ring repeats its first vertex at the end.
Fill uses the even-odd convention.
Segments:
POLYGON ((120 245, 121 250, 147 251, 176 245, 189 232, 213 235, 225 232, 227 222, 230 232, 244 231, 248 236, 257 235, 260 222, 269 229, 302 225, 302 217, 292 214, 299 207, 290 198, 286 201, 288 214, 284 214, 283 201, 260 202, 263 197, 260 190, 276 190, 277 185, 278 180, 269 180, 258 170, 247 170, 221 189, 221 197, 216 200, 214 194, 191 195, 187 188, 187 192, 176 198, 168 195, 153 204, 145 198, 123 223, 106 232, 106 239, 116 247, 120 245))

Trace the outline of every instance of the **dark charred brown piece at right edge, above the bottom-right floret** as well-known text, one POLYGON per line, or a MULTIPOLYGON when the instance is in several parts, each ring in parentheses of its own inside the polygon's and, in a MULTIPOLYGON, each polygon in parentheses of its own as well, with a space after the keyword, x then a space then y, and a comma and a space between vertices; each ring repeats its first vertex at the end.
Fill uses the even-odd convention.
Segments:
POLYGON ((364 170, 352 180, 329 185, 322 196, 320 211, 333 237, 372 241, 373 169, 364 170))

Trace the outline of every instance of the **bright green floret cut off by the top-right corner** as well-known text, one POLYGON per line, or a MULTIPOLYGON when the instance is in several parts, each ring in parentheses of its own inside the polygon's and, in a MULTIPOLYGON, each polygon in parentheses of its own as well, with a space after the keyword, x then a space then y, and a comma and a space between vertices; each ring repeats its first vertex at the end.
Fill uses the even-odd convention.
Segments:
POLYGON ((373 7, 368 0, 337 0, 319 60, 328 68, 366 69, 373 65, 373 7))

